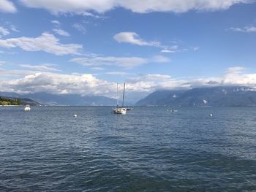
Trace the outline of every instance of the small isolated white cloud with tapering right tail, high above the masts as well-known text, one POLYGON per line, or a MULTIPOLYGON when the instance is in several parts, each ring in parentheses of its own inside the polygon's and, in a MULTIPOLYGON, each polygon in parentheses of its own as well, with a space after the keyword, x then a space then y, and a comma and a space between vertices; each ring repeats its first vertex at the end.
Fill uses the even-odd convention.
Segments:
POLYGON ((116 34, 113 37, 117 42, 127 42, 134 45, 140 46, 153 46, 153 47, 162 47, 160 42, 146 42, 143 39, 139 38, 139 35, 135 32, 121 32, 116 34))

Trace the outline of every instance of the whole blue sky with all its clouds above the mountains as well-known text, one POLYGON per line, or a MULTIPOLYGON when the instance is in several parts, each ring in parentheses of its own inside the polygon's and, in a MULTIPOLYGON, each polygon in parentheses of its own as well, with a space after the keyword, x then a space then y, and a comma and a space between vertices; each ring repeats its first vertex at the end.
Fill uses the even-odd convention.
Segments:
POLYGON ((0 90, 255 87, 255 37, 255 1, 0 0, 0 90))

